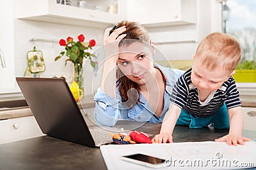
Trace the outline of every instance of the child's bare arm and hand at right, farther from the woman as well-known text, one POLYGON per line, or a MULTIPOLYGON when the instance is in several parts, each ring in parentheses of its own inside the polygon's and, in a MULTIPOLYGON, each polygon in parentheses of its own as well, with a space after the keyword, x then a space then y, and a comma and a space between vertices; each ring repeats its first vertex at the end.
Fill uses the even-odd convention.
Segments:
POLYGON ((250 141, 250 139, 242 137, 243 134, 243 114, 241 106, 228 109, 229 125, 230 129, 227 135, 222 138, 215 139, 215 141, 226 141, 228 145, 237 144, 244 145, 244 141, 250 141))

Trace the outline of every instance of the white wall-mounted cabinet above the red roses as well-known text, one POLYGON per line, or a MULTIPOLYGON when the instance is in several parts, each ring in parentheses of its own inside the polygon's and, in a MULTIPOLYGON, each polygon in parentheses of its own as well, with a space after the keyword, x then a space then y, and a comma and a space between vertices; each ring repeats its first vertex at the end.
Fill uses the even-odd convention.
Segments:
POLYGON ((122 4, 118 1, 118 13, 57 4, 54 0, 15 0, 15 17, 58 24, 82 25, 105 28, 124 20, 122 4))

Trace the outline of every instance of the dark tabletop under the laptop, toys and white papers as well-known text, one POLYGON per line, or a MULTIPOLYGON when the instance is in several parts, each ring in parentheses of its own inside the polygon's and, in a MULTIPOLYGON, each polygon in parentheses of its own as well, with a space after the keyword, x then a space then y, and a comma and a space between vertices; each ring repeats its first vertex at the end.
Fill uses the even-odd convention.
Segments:
MULTIPOLYGON (((88 120, 86 120, 88 122, 88 120)), ((137 131, 158 134, 161 124, 118 121, 116 127, 139 127, 137 131)), ((176 126, 174 142, 214 141, 228 133, 227 129, 208 127, 189 129, 176 126)), ((256 140, 256 131, 244 131, 244 136, 256 140)), ((50 136, 40 136, 0 145, 0 169, 106 169, 99 148, 70 143, 50 136)))

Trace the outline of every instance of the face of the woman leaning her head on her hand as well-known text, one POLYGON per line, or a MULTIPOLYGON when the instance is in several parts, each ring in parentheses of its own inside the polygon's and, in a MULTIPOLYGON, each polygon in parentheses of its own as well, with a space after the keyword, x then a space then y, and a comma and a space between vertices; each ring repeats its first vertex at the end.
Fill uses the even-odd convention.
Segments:
POLYGON ((120 46, 119 52, 117 64, 125 76, 139 85, 147 83, 154 71, 153 48, 138 41, 120 46))

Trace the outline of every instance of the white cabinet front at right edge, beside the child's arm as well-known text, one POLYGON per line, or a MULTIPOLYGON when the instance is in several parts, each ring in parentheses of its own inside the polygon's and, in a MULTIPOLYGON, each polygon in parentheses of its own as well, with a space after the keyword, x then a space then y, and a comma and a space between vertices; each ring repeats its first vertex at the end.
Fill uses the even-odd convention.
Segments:
POLYGON ((256 108, 242 107, 244 130, 256 130, 256 108))

